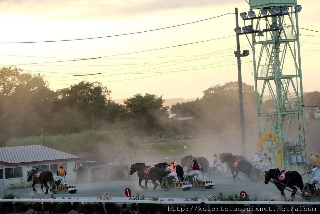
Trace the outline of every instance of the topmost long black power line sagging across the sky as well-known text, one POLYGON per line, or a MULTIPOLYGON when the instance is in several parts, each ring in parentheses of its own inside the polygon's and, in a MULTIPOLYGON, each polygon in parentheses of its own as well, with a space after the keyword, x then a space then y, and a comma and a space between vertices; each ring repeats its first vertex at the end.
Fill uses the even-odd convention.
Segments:
POLYGON ((221 17, 221 16, 225 16, 225 15, 227 15, 227 14, 229 14, 229 13, 225 13, 225 14, 223 14, 223 15, 215 16, 215 17, 211 17, 211 18, 208 18, 208 19, 202 19, 202 20, 198 20, 198 21, 192 21, 192 22, 188 22, 188 23, 184 23, 184 24, 174 25, 174 26, 170 26, 170 27, 158 28, 158 29, 153 29, 153 30, 144 30, 144 31, 133 32, 133 33, 117 34, 117 35, 112 35, 112 36, 91 37, 91 38, 83 38, 83 39, 64 39, 64 40, 33 41, 33 42, 0 42, 0 44, 21 44, 21 43, 42 43, 42 42, 64 42, 64 41, 77 41, 77 40, 100 39, 100 38, 108 38, 108 37, 124 36, 124 35, 130 35, 130 34, 145 33, 145 32, 150 32, 150 31, 155 31, 155 30, 163 30, 163 29, 167 29, 167 28, 174 28, 174 27, 178 27, 178 26, 182 26, 182 25, 187 25, 187 24, 193 24, 193 23, 196 23, 196 22, 206 21, 206 20, 210 20, 210 19, 218 18, 218 17, 221 17))

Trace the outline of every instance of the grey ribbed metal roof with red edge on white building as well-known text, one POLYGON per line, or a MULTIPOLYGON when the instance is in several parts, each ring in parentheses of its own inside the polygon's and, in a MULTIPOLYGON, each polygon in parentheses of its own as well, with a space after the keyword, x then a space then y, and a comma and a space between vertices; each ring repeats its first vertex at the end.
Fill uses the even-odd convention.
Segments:
POLYGON ((80 157, 41 145, 0 148, 0 164, 9 166, 78 159, 80 157))

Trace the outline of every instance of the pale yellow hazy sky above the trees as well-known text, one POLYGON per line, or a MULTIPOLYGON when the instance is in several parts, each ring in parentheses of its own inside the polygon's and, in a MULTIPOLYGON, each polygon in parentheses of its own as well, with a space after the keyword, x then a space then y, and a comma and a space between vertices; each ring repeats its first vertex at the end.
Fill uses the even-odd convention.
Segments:
MULTIPOLYGON (((303 90, 308 92, 319 90, 320 3, 299 4, 299 26, 315 30, 300 29, 309 35, 300 36, 303 90)), ((234 11, 249 11, 245 0, 1 0, 0 7, 0 65, 40 73, 52 90, 98 81, 112 90, 113 99, 137 93, 201 98, 212 86, 237 81, 234 11), (96 37, 105 38, 5 43, 96 37), (76 60, 95 57, 101 58, 76 60), (74 76, 95 73, 101 74, 74 76)), ((251 49, 244 35, 240 46, 251 49)), ((252 67, 252 54, 242 57, 242 80, 250 85, 252 67)))

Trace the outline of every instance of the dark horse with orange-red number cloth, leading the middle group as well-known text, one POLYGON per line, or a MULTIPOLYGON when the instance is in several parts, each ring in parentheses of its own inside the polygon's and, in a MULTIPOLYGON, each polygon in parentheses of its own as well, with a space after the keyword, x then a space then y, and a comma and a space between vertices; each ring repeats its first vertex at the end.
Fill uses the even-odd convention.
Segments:
POLYGON ((146 185, 146 189, 148 189, 148 180, 151 180, 152 183, 155 185, 155 187, 153 188, 153 190, 155 190, 157 188, 157 183, 156 181, 158 180, 159 183, 162 183, 162 179, 165 176, 164 172, 161 171, 160 169, 156 168, 156 167, 150 167, 147 171, 147 173, 145 173, 145 169, 147 169, 149 166, 146 166, 144 163, 135 163, 133 165, 131 165, 130 168, 130 175, 133 175, 133 173, 137 172, 138 173, 138 177, 139 177, 139 186, 141 187, 141 189, 144 188, 144 186, 141 185, 142 180, 145 180, 145 185, 146 185))

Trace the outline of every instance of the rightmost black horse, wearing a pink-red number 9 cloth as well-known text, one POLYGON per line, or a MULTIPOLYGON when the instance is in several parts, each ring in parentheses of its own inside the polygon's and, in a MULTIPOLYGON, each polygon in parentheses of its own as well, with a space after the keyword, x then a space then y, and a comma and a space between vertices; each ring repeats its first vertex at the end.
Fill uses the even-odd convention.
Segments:
MULTIPOLYGON (((265 171, 266 172, 266 171, 265 171)), ((285 176, 284 176, 284 180, 280 181, 279 180, 279 174, 282 174, 278 168, 276 169, 269 169, 268 172, 266 172, 266 174, 264 175, 265 180, 264 183, 268 184, 269 181, 271 181, 273 184, 276 185, 277 189, 280 190, 281 192, 281 197, 284 197, 284 200, 286 200, 287 198, 284 195, 284 188, 285 187, 290 187, 293 191, 293 193, 291 194, 291 197, 294 197, 295 192, 297 192, 297 187, 299 187, 299 189, 301 190, 302 193, 302 189, 303 189, 303 181, 302 181, 302 177, 299 174, 299 172, 297 171, 288 171, 285 176)), ((302 193, 304 194, 304 193, 302 193)))

